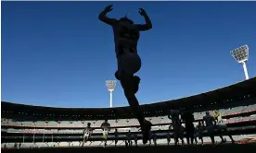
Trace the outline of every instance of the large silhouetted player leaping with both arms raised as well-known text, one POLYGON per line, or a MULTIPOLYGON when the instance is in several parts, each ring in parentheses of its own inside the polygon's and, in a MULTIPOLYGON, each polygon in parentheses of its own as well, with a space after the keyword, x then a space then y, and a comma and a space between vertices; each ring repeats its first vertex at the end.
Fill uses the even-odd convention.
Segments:
POLYGON ((139 102, 135 97, 138 91, 140 77, 134 76, 141 67, 141 59, 137 53, 137 42, 140 31, 152 29, 152 24, 143 8, 139 8, 139 14, 145 18, 146 24, 134 24, 130 18, 120 19, 109 18, 107 14, 112 10, 112 5, 106 6, 99 14, 98 18, 104 23, 110 25, 114 32, 115 52, 118 63, 118 70, 115 76, 120 80, 124 95, 128 100, 135 117, 138 119, 143 134, 143 143, 148 140, 148 132, 151 129, 151 123, 145 120, 140 111, 139 102))

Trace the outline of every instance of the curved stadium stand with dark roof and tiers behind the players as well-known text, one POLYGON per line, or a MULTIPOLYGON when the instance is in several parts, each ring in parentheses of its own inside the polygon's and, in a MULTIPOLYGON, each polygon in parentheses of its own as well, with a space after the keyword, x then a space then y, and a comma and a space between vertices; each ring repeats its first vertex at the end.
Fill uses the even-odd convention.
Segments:
MULTIPOLYGON (((195 125, 202 120, 206 111, 218 110, 222 113, 228 133, 237 144, 250 143, 256 137, 256 77, 237 84, 218 88, 178 100, 168 100, 142 105, 147 119, 153 124, 152 133, 157 135, 157 144, 167 144, 167 135, 173 137, 168 119, 170 110, 190 110, 194 112, 195 125)), ((108 147, 114 146, 114 130, 119 132, 118 146, 125 146, 127 132, 137 135, 141 142, 139 124, 129 107, 117 108, 53 108, 32 106, 2 101, 1 147, 42 148, 81 147, 83 129, 87 123, 94 128, 93 135, 84 147, 103 147, 100 125, 109 119, 108 147)), ((132 139, 134 137, 132 136, 132 139)), ((211 139, 203 132, 204 142, 211 139)), ((226 137, 227 141, 229 140, 226 137)), ((216 141, 220 138, 216 135, 216 141)), ((171 140, 171 143, 173 139, 171 140)))

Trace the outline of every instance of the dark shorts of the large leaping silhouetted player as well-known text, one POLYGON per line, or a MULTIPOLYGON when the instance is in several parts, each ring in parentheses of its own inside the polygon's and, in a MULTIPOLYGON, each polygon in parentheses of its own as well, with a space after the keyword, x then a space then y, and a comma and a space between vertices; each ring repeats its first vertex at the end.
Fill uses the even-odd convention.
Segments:
POLYGON ((140 67, 141 59, 137 53, 122 53, 118 56, 118 76, 134 76, 140 67))

